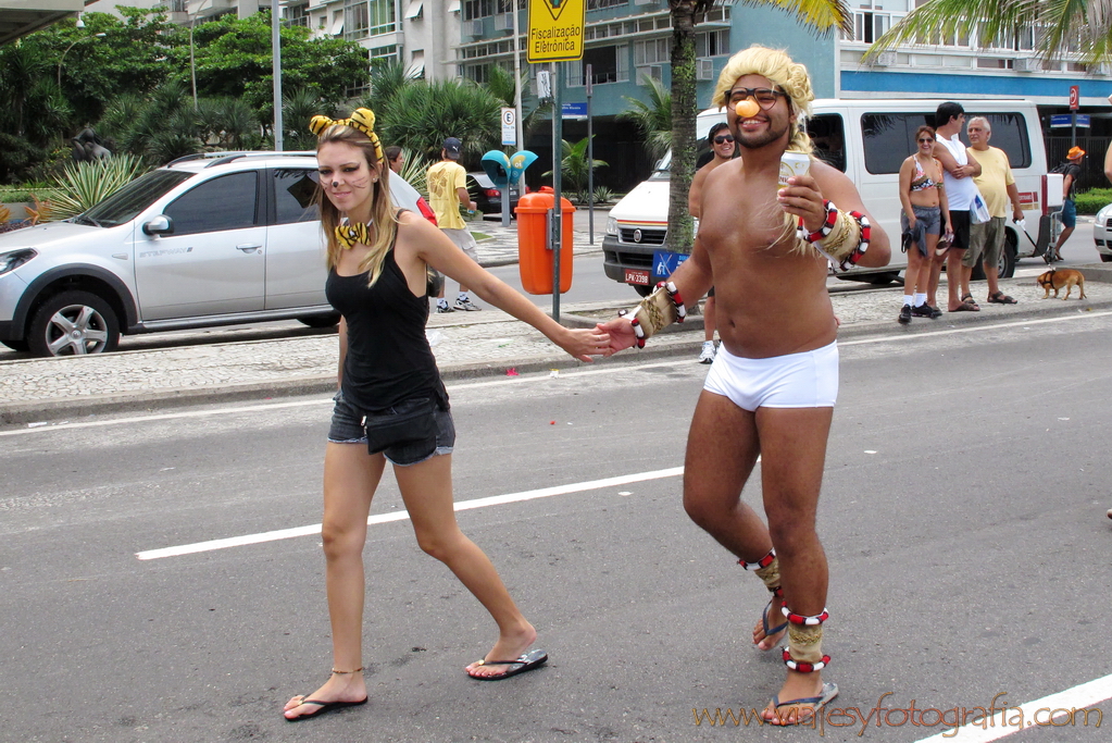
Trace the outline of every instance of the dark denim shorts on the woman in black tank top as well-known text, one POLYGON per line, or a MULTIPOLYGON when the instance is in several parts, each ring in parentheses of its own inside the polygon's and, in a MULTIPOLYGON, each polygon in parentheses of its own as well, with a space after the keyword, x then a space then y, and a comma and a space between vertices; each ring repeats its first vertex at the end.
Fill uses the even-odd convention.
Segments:
MULTIPOLYGON (((425 462, 439 454, 451 454, 453 447, 456 444, 456 426, 451 420, 451 412, 441 410, 439 406, 427 397, 405 400, 387 410, 368 414, 366 416, 366 427, 364 426, 364 415, 345 399, 344 393, 336 393, 332 400, 335 400, 336 405, 332 408, 332 422, 328 429, 328 440, 332 444, 361 444, 363 446, 368 446, 368 427, 374 429, 376 424, 390 425, 396 419, 403 417, 413 419, 413 423, 416 425, 428 425, 435 432, 435 442, 386 442, 385 447, 380 446, 375 452, 369 452, 368 448, 370 454, 381 452, 386 455, 390 464, 405 467, 425 462), (431 420, 420 415, 423 408, 428 409, 431 420)), ((403 428, 405 427, 403 426, 403 428)))

